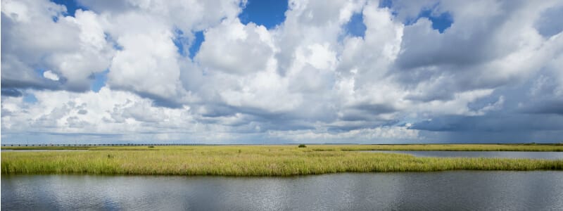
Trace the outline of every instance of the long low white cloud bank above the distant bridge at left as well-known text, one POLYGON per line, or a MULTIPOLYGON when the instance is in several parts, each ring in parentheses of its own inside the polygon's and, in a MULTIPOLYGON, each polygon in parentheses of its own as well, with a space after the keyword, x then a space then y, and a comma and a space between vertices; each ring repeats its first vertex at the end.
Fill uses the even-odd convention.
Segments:
POLYGON ((191 130, 189 107, 155 107, 146 98, 103 87, 88 91, 33 91, 37 103, 3 98, 2 130, 9 132, 131 134, 163 132, 159 127, 191 130))

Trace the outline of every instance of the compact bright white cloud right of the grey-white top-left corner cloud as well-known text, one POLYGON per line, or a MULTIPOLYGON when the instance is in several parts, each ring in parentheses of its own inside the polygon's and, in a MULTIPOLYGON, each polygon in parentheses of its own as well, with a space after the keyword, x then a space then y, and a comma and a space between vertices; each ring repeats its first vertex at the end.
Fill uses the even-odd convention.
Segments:
POLYGON ((124 50, 115 54, 110 65, 110 87, 160 98, 178 96, 179 56, 171 38, 167 31, 120 37, 124 50))

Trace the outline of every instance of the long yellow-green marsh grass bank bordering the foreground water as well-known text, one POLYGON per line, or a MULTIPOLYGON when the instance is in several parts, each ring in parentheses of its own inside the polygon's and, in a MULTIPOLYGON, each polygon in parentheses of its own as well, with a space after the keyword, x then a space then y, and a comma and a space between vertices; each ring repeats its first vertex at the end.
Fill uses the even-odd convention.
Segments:
MULTIPOLYGON (((417 158, 360 153, 359 146, 91 147, 89 151, 1 153, 2 174, 291 176, 336 172, 563 170, 563 160, 417 158), (110 149, 110 150, 108 150, 110 149)), ((377 150, 381 150, 377 148, 377 150)), ((404 150, 404 149, 400 149, 404 150)))

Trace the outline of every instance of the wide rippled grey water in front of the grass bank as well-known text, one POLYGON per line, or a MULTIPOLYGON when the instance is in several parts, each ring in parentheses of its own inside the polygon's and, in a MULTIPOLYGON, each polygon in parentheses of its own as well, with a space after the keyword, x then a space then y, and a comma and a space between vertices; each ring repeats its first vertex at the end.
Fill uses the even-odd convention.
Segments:
POLYGON ((2 210, 562 210, 563 172, 303 177, 16 175, 2 210))

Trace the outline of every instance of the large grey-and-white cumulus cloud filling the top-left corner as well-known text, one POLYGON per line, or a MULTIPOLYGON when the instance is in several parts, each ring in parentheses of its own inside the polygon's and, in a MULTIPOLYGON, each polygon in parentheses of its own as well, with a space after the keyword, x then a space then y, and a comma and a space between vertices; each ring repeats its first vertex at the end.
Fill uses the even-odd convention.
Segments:
POLYGON ((113 49, 96 13, 64 16, 49 1, 2 1, 2 87, 86 91, 90 75, 105 70, 113 49), (43 77, 59 75, 59 80, 43 77))

